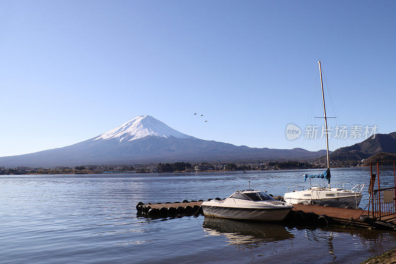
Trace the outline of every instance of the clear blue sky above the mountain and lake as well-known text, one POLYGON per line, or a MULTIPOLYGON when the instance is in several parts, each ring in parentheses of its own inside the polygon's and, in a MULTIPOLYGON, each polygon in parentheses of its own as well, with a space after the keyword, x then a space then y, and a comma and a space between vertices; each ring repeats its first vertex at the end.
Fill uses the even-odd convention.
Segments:
POLYGON ((285 127, 322 123, 308 117, 318 60, 337 122, 396 131, 395 10, 395 1, 1 1, 0 156, 71 145, 144 114, 201 139, 316 151, 323 141, 288 141, 285 127))

